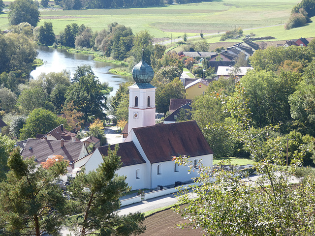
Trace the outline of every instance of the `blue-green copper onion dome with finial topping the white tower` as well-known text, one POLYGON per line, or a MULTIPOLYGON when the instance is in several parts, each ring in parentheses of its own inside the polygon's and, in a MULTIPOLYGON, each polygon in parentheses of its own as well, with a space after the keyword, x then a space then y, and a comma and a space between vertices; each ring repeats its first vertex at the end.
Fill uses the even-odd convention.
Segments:
POLYGON ((148 65, 143 58, 132 69, 132 78, 137 84, 150 83, 154 76, 154 71, 150 65, 148 65))

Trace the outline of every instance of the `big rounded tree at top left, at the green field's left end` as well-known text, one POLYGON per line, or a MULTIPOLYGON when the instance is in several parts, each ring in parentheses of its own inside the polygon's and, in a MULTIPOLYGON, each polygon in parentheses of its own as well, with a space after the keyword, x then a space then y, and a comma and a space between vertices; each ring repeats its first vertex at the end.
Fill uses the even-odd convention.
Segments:
POLYGON ((27 22, 35 27, 39 22, 40 13, 33 0, 15 0, 9 8, 8 19, 11 25, 27 22))

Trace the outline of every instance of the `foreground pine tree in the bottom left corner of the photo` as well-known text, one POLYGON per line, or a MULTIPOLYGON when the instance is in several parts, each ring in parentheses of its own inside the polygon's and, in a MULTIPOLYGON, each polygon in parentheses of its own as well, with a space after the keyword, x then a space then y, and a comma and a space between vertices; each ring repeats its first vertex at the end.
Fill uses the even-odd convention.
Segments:
POLYGON ((68 163, 57 162, 49 169, 23 160, 20 150, 11 152, 10 171, 0 183, 0 214, 4 230, 25 236, 58 235, 65 216, 63 191, 54 182, 64 175, 68 163))

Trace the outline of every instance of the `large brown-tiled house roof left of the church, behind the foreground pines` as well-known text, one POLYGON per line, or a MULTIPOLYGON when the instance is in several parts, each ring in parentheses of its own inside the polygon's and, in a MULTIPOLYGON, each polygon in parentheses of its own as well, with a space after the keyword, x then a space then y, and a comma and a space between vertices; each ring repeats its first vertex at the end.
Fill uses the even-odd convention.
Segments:
POLYGON ((69 161, 67 171, 72 174, 74 162, 88 154, 83 142, 66 140, 28 139, 21 155, 24 159, 34 156, 37 165, 46 162, 48 158, 62 155, 64 160, 69 161))

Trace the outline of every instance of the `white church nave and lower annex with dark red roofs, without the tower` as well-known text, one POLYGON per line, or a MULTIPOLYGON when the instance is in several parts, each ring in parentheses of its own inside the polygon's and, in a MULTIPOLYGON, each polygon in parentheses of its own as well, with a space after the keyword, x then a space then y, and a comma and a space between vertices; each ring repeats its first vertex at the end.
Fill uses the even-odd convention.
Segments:
MULTIPOLYGON (((98 167, 107 149, 108 146, 96 148, 85 163, 87 172, 98 167)), ((213 151, 196 121, 192 120, 133 128, 126 141, 119 144, 117 154, 122 157, 123 163, 117 174, 125 175, 132 189, 152 189, 198 176, 197 171, 188 174, 189 168, 176 164, 173 156, 189 156, 196 168, 200 160, 212 167, 213 151)))

